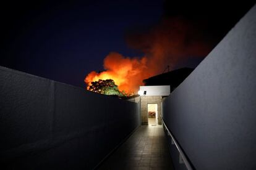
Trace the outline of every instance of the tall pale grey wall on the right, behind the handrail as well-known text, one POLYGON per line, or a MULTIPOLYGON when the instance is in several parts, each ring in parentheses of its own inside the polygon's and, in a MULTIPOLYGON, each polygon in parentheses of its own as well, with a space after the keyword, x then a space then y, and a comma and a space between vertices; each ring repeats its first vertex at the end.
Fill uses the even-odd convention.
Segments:
POLYGON ((163 109, 195 169, 256 169, 256 6, 163 109))

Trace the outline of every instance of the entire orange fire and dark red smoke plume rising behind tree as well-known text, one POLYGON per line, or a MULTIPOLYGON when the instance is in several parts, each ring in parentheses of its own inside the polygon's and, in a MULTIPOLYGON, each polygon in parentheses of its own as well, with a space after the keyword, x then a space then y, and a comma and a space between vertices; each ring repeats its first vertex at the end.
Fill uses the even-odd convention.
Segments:
POLYGON ((197 29, 179 18, 163 20, 147 33, 128 37, 129 46, 145 55, 130 58, 110 52, 103 63, 106 71, 92 71, 85 77, 87 89, 99 79, 113 79, 119 91, 136 93, 143 79, 160 74, 167 65, 174 67, 190 57, 205 57, 211 49, 197 29))

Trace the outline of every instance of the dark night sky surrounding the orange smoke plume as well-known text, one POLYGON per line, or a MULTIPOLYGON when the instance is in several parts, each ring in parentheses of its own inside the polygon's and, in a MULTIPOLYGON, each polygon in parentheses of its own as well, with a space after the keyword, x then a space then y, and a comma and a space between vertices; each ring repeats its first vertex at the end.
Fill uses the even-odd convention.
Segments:
MULTIPOLYGON (((142 56, 142 50, 127 42, 129 37, 147 32, 163 18, 186 18, 213 49, 254 3, 7 2, 1 4, 0 65, 85 87, 85 76, 103 71, 109 52, 142 56)), ((176 67, 195 67, 201 60, 184 60, 176 67)))

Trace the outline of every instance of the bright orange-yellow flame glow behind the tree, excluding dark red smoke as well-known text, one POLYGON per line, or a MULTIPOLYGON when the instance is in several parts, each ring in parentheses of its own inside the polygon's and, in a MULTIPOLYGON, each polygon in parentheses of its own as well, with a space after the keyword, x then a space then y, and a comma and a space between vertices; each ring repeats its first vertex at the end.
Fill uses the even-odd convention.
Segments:
POLYGON ((92 82, 99 79, 113 79, 119 91, 132 94, 138 90, 142 80, 150 76, 150 71, 147 72, 146 57, 130 59, 117 52, 111 52, 104 60, 104 68, 107 71, 101 73, 92 71, 87 75, 85 78, 85 83, 88 84, 87 89, 92 82))

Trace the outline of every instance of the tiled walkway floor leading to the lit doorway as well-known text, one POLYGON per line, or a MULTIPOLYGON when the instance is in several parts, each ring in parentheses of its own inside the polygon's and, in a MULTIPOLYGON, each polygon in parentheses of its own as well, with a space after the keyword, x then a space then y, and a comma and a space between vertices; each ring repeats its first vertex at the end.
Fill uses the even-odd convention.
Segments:
POLYGON ((174 169, 163 127, 139 127, 98 169, 174 169))

